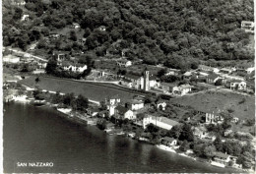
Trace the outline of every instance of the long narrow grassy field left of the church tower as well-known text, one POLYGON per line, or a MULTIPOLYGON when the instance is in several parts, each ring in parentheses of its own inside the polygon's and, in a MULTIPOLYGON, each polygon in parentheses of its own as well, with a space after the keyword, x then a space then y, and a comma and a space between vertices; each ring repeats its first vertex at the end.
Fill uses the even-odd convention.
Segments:
MULTIPOLYGON (((28 87, 35 87, 35 77, 22 80, 19 83, 28 87)), ((116 87, 114 85, 100 85, 93 83, 82 83, 71 80, 61 80, 55 78, 39 78, 37 83, 39 88, 53 91, 60 91, 63 93, 74 92, 75 95, 82 94, 89 99, 96 101, 102 101, 107 97, 117 95, 121 98, 121 101, 127 101, 133 97, 134 94, 138 94, 136 91, 129 91, 122 87, 116 87)))

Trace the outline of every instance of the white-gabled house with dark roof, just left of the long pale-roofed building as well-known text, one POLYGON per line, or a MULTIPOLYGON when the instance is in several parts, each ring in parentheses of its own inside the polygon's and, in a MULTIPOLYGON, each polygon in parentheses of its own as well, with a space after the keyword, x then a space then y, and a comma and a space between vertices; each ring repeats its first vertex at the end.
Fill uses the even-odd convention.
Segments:
POLYGON ((135 120, 136 115, 133 114, 133 111, 130 110, 127 107, 118 105, 114 108, 114 117, 116 119, 129 119, 129 120, 135 120))

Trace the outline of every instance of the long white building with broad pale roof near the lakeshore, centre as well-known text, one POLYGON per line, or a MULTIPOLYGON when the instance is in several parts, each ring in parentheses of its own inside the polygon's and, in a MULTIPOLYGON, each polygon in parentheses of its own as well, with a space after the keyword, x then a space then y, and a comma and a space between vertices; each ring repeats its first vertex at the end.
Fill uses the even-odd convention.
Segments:
POLYGON ((174 120, 170 120, 166 117, 156 117, 156 116, 152 116, 152 115, 147 115, 143 118, 143 128, 144 129, 146 129, 147 125, 149 125, 151 123, 154 124, 155 126, 165 129, 165 130, 170 130, 173 126, 179 124, 178 122, 176 122, 174 120))

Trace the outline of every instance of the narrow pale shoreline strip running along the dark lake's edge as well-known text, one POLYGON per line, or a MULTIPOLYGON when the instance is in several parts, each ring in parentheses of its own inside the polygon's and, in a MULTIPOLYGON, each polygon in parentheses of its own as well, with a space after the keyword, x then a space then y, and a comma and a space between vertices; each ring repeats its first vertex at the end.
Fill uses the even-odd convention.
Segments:
MULTIPOLYGON (((26 99, 26 100, 22 99, 22 100, 12 100, 12 101, 16 102, 16 103, 31 104, 31 102, 34 101, 34 100, 35 99, 26 99)), ((57 112, 62 114, 62 116, 61 116, 62 118, 66 119, 68 121, 71 121, 73 123, 80 124, 82 126, 85 126, 85 125, 96 126, 96 124, 88 124, 88 120, 82 119, 80 116, 78 116, 78 113, 75 113, 75 114, 72 113, 73 110, 70 109, 70 108, 58 108, 58 104, 52 104, 50 102, 45 102, 45 104, 43 104, 41 106, 35 106, 35 105, 33 105, 33 106, 34 107, 46 107, 46 108, 50 108, 50 109, 56 110, 57 112)), ((116 129, 113 129, 113 130, 116 130, 116 129)), ((104 130, 101 130, 101 131, 104 132, 104 130)), ((115 135, 119 136, 118 134, 115 134, 115 135)), ((148 143, 148 144, 152 145, 151 142, 149 142, 149 141, 141 141, 140 139, 134 139, 132 137, 129 137, 127 133, 124 133, 121 136, 124 136, 124 135, 125 135, 125 137, 128 137, 129 139, 136 140, 136 141, 138 141, 140 143, 148 143)), ((160 148, 162 150, 175 153, 175 154, 177 154, 179 156, 183 156, 183 157, 192 159, 193 161, 203 162, 203 161, 200 160, 200 157, 192 157, 192 156, 189 156, 189 155, 185 154, 184 152, 179 153, 179 152, 177 152, 174 149, 166 150, 166 149, 163 149, 163 148, 159 147, 160 145, 154 145, 154 146, 156 146, 156 147, 158 147, 158 148, 160 148)), ((208 165, 213 166, 213 167, 218 167, 218 166, 212 165, 210 162, 203 162, 203 163, 207 163, 208 165)), ((224 167, 224 168, 226 168, 226 169, 228 169, 228 168, 230 169, 231 168, 231 169, 237 170, 237 172, 247 172, 247 173, 253 173, 254 172, 254 171, 247 171, 246 169, 238 169, 238 168, 233 168, 233 167, 224 167)))

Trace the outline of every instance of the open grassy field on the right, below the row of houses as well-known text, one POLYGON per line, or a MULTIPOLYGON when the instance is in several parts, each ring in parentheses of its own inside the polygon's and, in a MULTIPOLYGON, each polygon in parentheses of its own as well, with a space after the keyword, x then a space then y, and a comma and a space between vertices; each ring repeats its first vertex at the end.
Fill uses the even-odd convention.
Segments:
POLYGON ((244 96, 228 91, 208 91, 194 95, 173 98, 171 103, 191 106, 204 112, 226 111, 240 120, 255 117, 255 96, 244 96))

